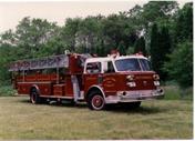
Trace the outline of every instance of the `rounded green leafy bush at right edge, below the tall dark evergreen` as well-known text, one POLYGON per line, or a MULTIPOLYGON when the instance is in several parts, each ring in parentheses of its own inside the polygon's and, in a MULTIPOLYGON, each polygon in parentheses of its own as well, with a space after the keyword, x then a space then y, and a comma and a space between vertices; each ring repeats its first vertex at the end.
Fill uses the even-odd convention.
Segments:
POLYGON ((182 88, 193 85, 193 42, 179 43, 168 56, 170 61, 165 63, 164 70, 171 79, 176 80, 182 88))

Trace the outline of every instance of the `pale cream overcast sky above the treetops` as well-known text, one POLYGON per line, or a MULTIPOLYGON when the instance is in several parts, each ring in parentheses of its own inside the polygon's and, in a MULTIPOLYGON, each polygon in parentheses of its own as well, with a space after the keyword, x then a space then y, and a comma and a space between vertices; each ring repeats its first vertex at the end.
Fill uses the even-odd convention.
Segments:
MULTIPOLYGON (((179 0, 183 6, 189 0, 179 0)), ((66 18, 109 16, 126 11, 135 4, 143 6, 147 0, 72 0, 72 1, 0 1, 0 33, 12 29, 24 17, 47 19, 64 24, 66 18)))

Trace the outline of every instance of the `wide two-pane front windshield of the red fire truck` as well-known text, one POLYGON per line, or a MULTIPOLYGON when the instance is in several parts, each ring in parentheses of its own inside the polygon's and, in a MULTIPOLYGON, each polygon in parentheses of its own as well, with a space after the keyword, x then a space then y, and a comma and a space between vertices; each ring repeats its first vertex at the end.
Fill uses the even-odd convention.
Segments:
POLYGON ((115 61, 117 71, 150 71, 151 63, 146 59, 120 59, 115 61))

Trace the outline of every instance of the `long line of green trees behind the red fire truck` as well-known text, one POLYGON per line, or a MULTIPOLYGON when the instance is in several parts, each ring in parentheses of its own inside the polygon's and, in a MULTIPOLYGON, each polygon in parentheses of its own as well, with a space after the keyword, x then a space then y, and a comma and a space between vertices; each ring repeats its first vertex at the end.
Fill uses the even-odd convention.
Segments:
POLYGON ((23 18, 16 30, 0 34, 0 83, 9 83, 11 61, 64 53, 106 56, 138 51, 148 57, 163 81, 193 85, 193 3, 150 1, 107 17, 68 18, 62 27, 23 18))

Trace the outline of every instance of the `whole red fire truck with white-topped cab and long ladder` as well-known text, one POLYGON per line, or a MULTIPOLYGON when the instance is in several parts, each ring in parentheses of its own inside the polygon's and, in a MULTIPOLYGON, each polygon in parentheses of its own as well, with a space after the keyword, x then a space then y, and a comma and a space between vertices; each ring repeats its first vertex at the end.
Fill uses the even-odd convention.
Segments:
POLYGON ((34 104, 43 100, 85 101, 90 109, 109 103, 131 103, 163 98, 160 77, 141 54, 61 54, 10 64, 12 83, 19 94, 29 94, 34 104))

